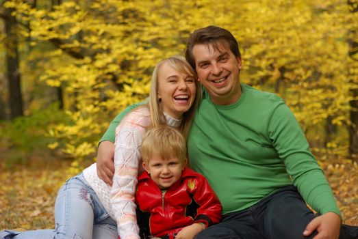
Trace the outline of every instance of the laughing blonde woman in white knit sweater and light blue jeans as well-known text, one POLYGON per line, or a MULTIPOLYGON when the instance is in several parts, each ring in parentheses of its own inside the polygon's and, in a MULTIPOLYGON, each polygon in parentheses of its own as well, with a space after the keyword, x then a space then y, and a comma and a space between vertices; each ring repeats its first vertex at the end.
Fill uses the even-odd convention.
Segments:
POLYGON ((97 175, 96 163, 67 180, 55 203, 55 229, 1 231, 0 238, 140 238, 133 202, 143 171, 139 147, 147 128, 168 124, 183 135, 199 103, 201 88, 183 57, 169 57, 153 71, 149 100, 116 128, 113 186, 97 175), (118 227, 117 227, 118 226, 118 227), (117 234, 118 231, 118 234, 117 234))

